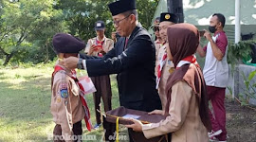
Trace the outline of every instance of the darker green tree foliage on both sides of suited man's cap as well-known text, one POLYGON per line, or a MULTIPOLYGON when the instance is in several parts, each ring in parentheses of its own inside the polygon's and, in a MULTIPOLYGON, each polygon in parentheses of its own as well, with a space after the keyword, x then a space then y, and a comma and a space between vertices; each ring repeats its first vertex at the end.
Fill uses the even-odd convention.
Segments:
MULTIPOLYGON (((151 27, 152 18, 159 0, 137 0, 138 19, 143 27, 151 27)), ((83 40, 95 37, 94 25, 98 20, 106 24, 106 36, 114 31, 112 16, 107 4, 113 0, 59 0, 56 9, 63 9, 71 34, 83 40)))

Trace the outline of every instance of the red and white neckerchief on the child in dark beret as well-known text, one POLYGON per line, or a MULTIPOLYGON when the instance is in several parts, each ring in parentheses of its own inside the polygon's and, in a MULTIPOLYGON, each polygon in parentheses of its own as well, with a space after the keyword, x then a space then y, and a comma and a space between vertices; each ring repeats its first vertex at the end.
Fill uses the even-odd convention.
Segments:
MULTIPOLYGON (((60 65, 55 65, 54 72, 52 73, 52 77, 54 76, 54 74, 56 74, 60 70, 64 70, 64 68, 61 67, 60 65)), ((66 75, 69 76, 70 78, 72 78, 73 80, 75 80, 76 83, 78 83, 78 85, 79 85, 79 88, 80 88, 80 98, 81 98, 82 106, 83 106, 84 113, 85 113, 84 121, 85 121, 87 130, 91 131, 93 126, 92 126, 92 122, 91 122, 91 118, 90 118, 90 110, 88 108, 87 101, 86 101, 86 98, 84 96, 84 89, 82 87, 82 84, 77 79, 76 71, 73 70, 71 73, 72 73, 71 75, 67 74, 67 73, 66 73, 66 75)))

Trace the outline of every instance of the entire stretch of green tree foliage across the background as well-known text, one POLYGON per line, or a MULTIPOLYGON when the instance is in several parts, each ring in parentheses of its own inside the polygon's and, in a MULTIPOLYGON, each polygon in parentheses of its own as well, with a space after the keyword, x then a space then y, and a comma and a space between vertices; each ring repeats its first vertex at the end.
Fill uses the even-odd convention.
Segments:
MULTIPOLYGON (((68 32, 85 42, 96 36, 98 20, 106 24, 106 36, 113 27, 107 4, 114 0, 0 0, 0 59, 10 62, 47 62, 55 56, 51 39, 68 32)), ((151 21, 159 0, 137 0, 143 27, 151 21)))

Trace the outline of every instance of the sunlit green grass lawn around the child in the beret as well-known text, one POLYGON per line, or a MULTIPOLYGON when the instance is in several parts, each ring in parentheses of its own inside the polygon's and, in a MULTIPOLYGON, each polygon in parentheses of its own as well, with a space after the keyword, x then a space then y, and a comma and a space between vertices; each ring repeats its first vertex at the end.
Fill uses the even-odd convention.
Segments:
MULTIPOLYGON (((50 114, 50 78, 53 64, 32 67, 1 67, 0 69, 0 142, 44 142, 52 134, 54 122, 50 114)), ((112 105, 119 107, 116 76, 112 80, 112 105)), ((91 118, 95 124, 92 95, 87 95, 91 118)), ((97 134, 100 141, 102 128, 83 134, 97 134)))

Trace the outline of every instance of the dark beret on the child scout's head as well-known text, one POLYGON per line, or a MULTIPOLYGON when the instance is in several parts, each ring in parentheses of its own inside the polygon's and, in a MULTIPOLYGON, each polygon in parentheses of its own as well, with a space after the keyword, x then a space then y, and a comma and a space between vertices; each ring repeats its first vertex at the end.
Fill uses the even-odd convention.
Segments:
POLYGON ((54 51, 58 53, 79 53, 84 47, 84 42, 70 34, 57 33, 52 38, 54 51))

